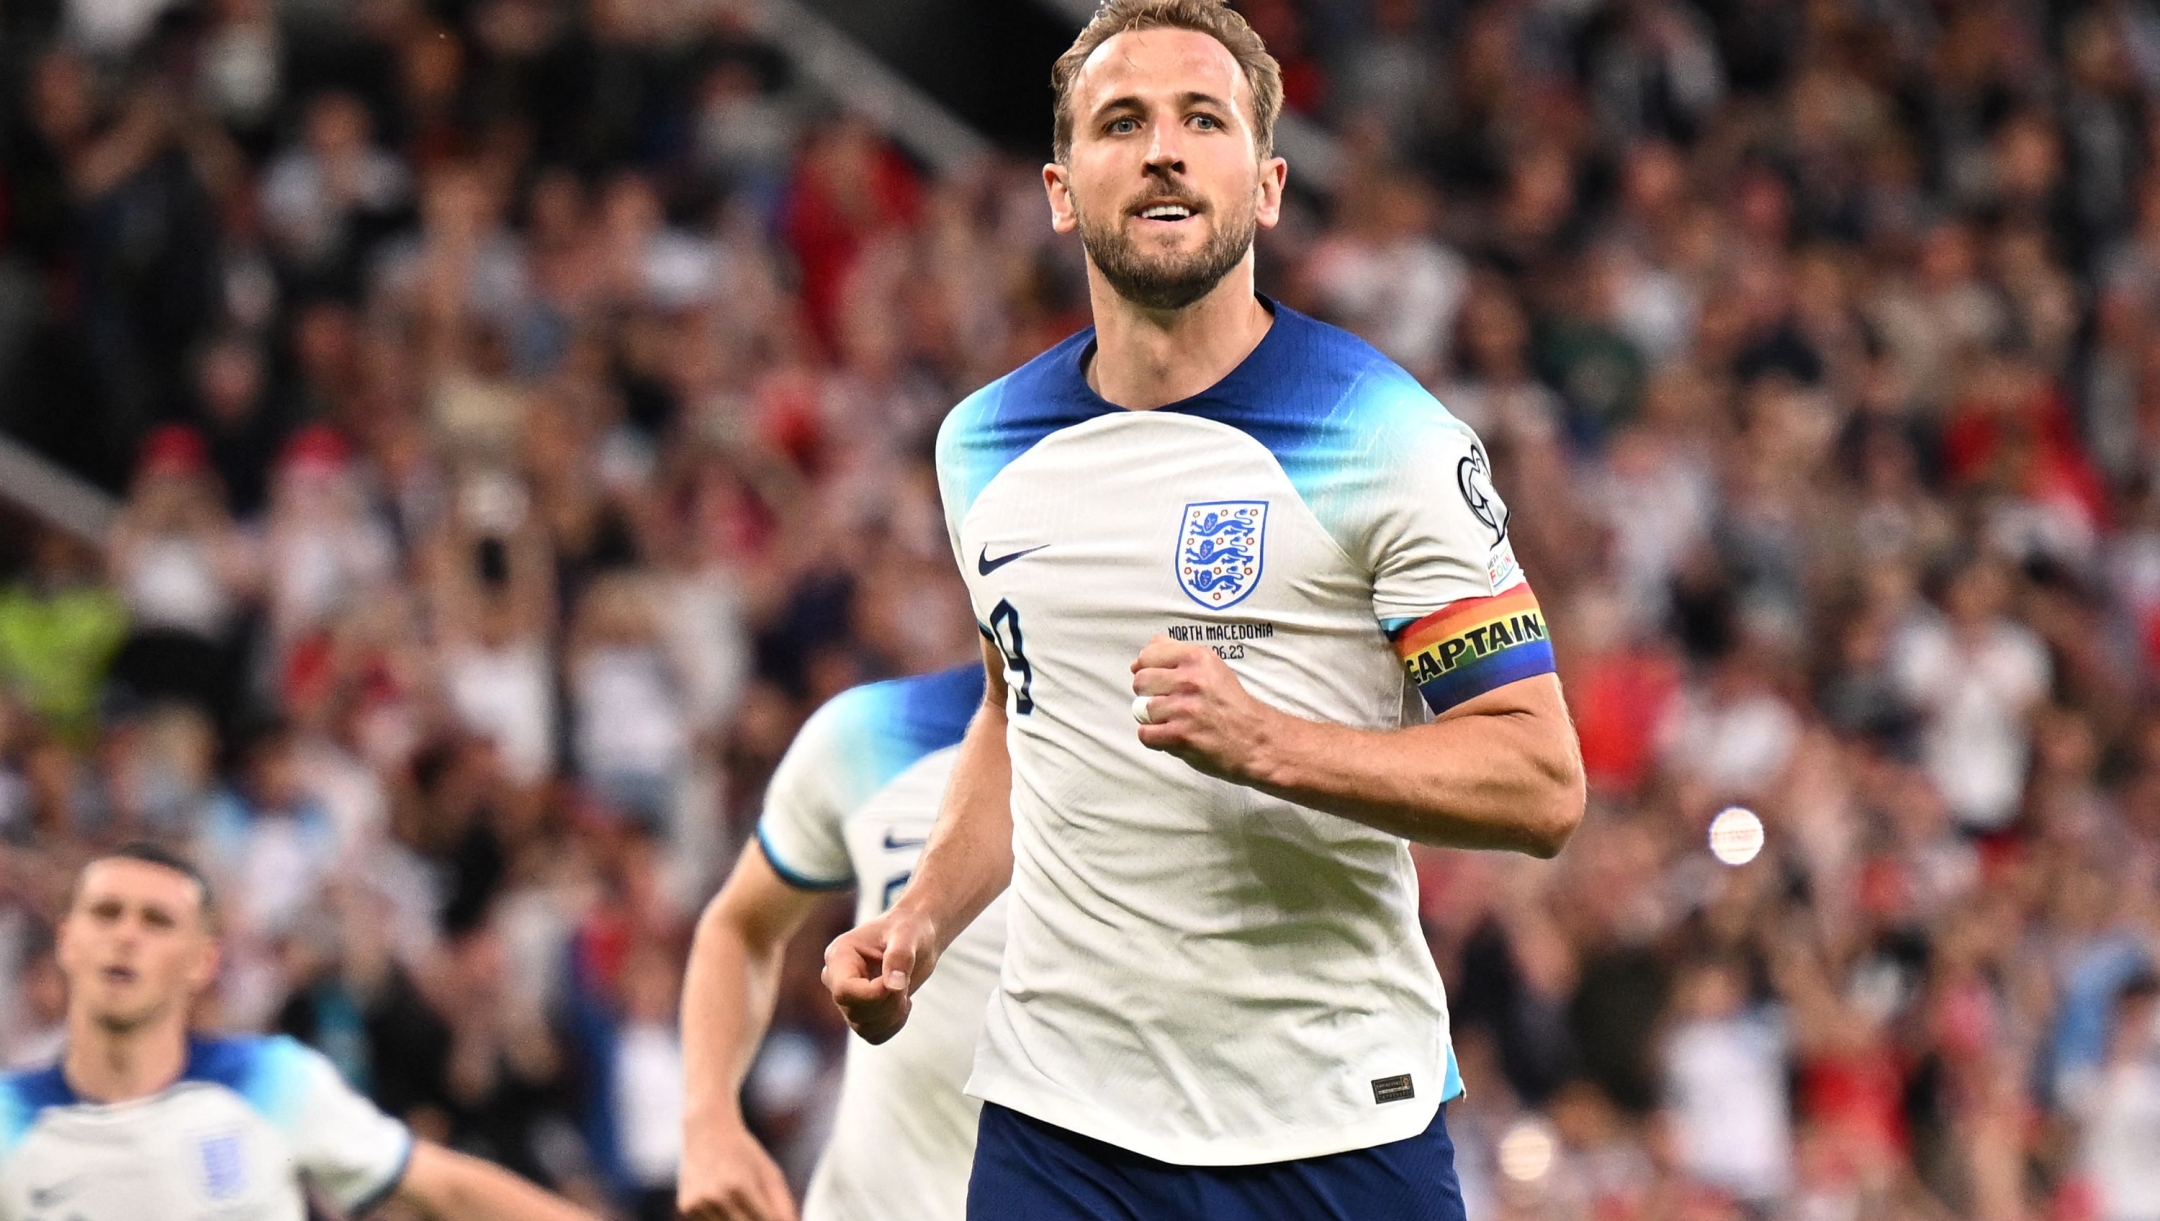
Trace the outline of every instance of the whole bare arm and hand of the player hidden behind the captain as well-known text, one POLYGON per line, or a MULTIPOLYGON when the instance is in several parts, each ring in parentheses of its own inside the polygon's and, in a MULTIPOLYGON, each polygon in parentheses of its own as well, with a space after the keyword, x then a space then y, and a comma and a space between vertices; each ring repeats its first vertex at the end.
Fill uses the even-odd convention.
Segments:
POLYGON ((750 1061, 773 1020, 788 940, 819 897, 780 880, 758 843, 698 918, 683 979, 683 1176, 687 1221, 793 1221, 795 1197, 743 1124, 750 1061))

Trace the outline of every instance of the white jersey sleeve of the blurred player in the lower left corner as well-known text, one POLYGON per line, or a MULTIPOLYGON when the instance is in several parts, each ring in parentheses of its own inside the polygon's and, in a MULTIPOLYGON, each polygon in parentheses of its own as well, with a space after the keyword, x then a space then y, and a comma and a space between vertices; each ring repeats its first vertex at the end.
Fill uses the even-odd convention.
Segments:
POLYGON ((346 1085, 322 1052, 274 1039, 268 1057, 272 1072, 287 1078, 283 1126, 300 1173, 350 1217, 397 1191, 413 1160, 413 1132, 346 1085))

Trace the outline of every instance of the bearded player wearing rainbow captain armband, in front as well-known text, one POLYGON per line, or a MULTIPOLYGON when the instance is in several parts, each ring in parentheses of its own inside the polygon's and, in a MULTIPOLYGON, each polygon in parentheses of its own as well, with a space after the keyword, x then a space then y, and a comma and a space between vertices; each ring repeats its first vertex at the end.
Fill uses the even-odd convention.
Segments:
POLYGON ((1011 886, 974 1219, 1460 1219, 1406 841, 1553 856, 1583 810, 1508 510, 1406 372, 1255 294, 1287 171, 1242 17, 1110 0, 1052 82, 1095 326, 940 432, 991 696, 825 981, 890 1037, 1011 886))

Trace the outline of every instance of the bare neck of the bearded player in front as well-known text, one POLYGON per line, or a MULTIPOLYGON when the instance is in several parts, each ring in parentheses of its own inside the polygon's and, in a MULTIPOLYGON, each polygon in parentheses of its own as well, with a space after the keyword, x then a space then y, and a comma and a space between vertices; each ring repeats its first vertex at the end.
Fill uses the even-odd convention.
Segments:
POLYGON ((1095 359, 1086 385, 1128 411, 1153 411, 1192 398, 1236 370, 1274 316, 1253 296, 1253 257, 1184 309, 1143 309, 1089 268, 1095 307, 1095 359))

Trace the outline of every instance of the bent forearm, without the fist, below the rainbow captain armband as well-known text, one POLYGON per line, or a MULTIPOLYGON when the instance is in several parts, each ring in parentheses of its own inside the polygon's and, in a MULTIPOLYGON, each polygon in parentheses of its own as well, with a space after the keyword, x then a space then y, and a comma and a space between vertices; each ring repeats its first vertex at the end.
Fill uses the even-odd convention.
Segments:
POLYGON ((1277 713, 1240 782, 1417 843, 1553 856, 1583 810, 1572 733, 1497 711, 1400 730, 1277 713))

